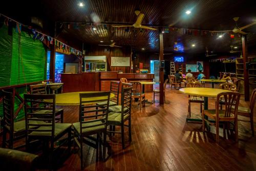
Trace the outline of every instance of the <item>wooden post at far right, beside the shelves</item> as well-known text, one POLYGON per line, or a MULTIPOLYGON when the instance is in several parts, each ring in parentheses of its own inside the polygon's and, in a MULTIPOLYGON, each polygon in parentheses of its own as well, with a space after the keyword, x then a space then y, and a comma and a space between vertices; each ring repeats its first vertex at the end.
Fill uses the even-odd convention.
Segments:
POLYGON ((244 66, 244 100, 250 101, 248 68, 246 69, 246 62, 248 62, 247 35, 242 36, 242 48, 243 48, 243 62, 244 62, 244 65, 243 65, 244 66))

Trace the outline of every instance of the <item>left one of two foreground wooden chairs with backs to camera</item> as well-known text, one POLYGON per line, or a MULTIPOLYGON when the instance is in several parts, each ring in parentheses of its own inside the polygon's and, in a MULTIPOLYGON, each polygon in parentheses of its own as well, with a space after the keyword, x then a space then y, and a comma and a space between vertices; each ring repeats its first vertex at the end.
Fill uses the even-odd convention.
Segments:
MULTIPOLYGON (((24 94, 26 119, 26 149, 29 151, 32 140, 41 140, 49 147, 50 163, 53 164, 54 142, 68 134, 68 146, 71 148, 71 123, 55 123, 55 94, 24 94), (33 106, 32 103, 44 105, 33 106), (39 113, 34 112, 41 111, 39 113), (47 112, 42 112, 47 111, 47 112)), ((65 143, 63 141, 61 144, 65 143)))

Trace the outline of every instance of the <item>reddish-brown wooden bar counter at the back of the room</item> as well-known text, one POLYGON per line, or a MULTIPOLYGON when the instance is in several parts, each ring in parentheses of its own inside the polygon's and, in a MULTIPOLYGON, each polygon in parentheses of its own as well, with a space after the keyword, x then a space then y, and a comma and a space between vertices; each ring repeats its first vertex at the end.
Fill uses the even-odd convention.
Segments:
MULTIPOLYGON (((82 72, 78 74, 61 74, 63 93, 78 91, 109 91, 110 81, 120 81, 126 78, 129 81, 153 81, 154 74, 123 73, 117 71, 82 72)), ((153 85, 145 85, 145 92, 152 92, 153 85)))

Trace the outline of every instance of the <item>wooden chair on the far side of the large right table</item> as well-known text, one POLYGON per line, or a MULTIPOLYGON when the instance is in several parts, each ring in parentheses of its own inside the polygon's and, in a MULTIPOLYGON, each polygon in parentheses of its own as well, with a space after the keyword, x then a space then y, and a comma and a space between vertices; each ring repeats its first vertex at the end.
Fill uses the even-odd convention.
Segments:
MULTIPOLYGON (((188 82, 187 83, 188 88, 198 88, 201 87, 201 83, 196 81, 196 82, 188 82)), ((188 113, 189 113, 189 118, 191 117, 191 103, 200 103, 200 112, 202 113, 202 103, 204 102, 203 97, 199 96, 192 96, 188 95, 188 113)))

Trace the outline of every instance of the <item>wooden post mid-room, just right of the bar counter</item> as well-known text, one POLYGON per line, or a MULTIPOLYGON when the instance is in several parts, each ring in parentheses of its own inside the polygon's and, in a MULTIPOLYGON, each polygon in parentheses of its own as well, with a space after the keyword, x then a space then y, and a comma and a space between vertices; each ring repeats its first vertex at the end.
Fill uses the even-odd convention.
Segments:
POLYGON ((164 92, 163 92, 163 83, 164 83, 164 77, 163 77, 163 70, 164 68, 161 68, 161 60, 163 60, 163 33, 162 30, 159 28, 159 88, 160 88, 160 104, 164 103, 164 92))

